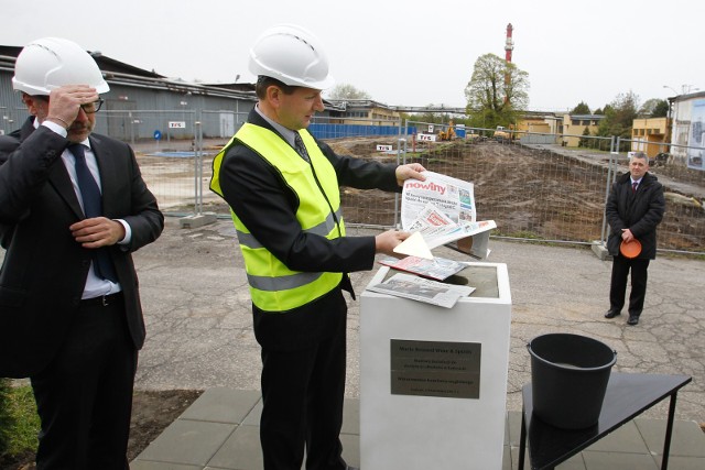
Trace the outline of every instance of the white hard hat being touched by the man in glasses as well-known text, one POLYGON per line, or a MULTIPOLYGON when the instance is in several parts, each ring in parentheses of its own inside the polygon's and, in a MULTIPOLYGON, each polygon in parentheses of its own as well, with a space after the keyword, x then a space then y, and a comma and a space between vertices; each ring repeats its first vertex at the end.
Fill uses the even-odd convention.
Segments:
POLYGON ((110 90, 96 61, 78 44, 42 37, 25 45, 14 63, 12 87, 28 95, 48 95, 63 85, 88 85, 110 90))

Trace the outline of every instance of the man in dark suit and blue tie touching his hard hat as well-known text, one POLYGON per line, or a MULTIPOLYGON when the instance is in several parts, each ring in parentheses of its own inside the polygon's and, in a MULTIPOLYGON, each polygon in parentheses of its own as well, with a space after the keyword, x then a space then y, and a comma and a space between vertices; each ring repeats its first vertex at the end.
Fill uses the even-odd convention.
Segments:
POLYGON ((37 40, 12 81, 32 117, 0 138, 0 376, 31 378, 37 469, 127 469, 144 342, 131 252, 164 218, 129 145, 91 134, 109 88, 85 50, 37 40))

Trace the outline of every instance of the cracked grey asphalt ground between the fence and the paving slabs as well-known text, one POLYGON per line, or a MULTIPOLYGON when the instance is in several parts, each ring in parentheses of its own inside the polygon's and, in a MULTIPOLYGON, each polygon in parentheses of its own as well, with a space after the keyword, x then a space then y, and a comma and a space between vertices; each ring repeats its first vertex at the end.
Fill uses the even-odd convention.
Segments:
MULTIPOLYGON (((628 327, 625 315, 603 318, 611 262, 600 261, 588 248, 495 239, 490 248, 489 261, 508 266, 512 293, 509 411, 521 409, 521 387, 531 381, 525 345, 546 332, 574 332, 614 348, 616 371, 692 375, 679 395, 676 417, 705 422, 703 261, 660 256, 652 262, 642 320, 628 327)), ((436 254, 458 258, 444 248, 436 254)), ((137 386, 259 390, 259 347, 231 222, 183 229, 177 219, 167 218, 162 238, 137 252, 135 262, 148 323, 137 386)), ((370 276, 352 274, 358 292, 370 276)), ((349 305, 346 396, 358 398, 359 303, 349 305)), ((665 412, 661 405, 648 416, 665 412)))

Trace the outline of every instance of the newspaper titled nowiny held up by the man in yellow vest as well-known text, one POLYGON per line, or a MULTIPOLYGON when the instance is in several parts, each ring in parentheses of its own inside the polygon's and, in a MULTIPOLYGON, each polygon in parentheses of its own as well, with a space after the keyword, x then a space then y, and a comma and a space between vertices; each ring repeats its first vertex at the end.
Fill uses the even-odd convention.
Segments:
POLYGON ((494 220, 476 221, 473 183, 434 172, 423 174, 423 182, 404 182, 401 225, 405 231, 420 233, 427 250, 419 245, 416 238, 410 238, 409 243, 402 242, 394 251, 429 259, 430 250, 452 243, 451 248, 486 259, 489 230, 497 225, 494 220))

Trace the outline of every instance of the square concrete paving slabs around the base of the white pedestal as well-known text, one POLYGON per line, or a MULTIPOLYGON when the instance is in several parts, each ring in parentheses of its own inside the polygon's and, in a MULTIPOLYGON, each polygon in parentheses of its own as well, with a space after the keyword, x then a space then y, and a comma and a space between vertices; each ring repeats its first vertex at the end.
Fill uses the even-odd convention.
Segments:
MULTIPOLYGON (((132 462, 137 470, 261 470, 259 444, 259 411, 261 402, 252 391, 218 389, 204 393, 191 408, 174 422, 132 462), (213 423, 213 412, 224 403, 240 409, 251 407, 240 425, 213 423), (243 424, 254 423, 254 424, 243 424)), ((241 415, 241 413, 238 413, 241 415)), ((503 470, 517 470, 521 412, 509 412, 506 419, 503 470)), ((558 470, 614 470, 660 468, 665 420, 637 418, 625 424, 593 446, 566 460, 558 470)), ((393 438, 393 436, 390 436, 393 438)), ((340 440, 344 458, 359 466, 359 401, 345 402, 340 440)), ((669 468, 671 470, 702 469, 705 462, 705 434, 693 422, 674 424, 669 468), (701 467, 698 467, 701 466, 701 467)), ((529 469, 527 455, 525 469, 529 469)), ((468 467, 471 468, 471 467, 468 467)), ((455 469, 454 469, 455 470, 455 469)), ((481 469, 485 470, 485 469, 481 469)))

